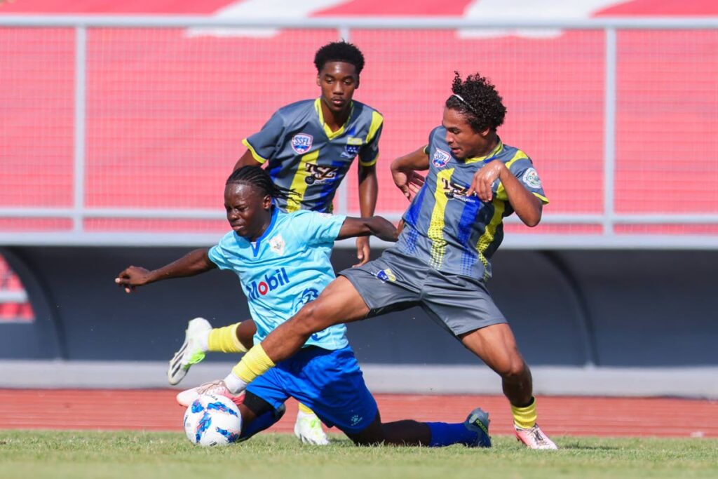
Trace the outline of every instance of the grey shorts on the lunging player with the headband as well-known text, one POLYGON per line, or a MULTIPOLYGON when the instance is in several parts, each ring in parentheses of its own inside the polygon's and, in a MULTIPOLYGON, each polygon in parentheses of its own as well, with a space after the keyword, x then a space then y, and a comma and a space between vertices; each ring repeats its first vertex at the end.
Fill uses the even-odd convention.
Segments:
POLYGON ((437 271, 392 249, 340 275, 364 299, 369 307, 367 317, 421 306, 432 320, 455 336, 507 322, 482 281, 437 271))

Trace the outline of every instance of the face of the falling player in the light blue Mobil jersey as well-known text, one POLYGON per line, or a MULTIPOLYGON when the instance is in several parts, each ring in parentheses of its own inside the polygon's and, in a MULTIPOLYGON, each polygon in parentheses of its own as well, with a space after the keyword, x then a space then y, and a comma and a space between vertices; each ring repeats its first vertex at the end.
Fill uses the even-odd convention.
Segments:
POLYGON ((243 238, 255 241, 271 221, 271 196, 262 195, 252 185, 230 183, 225 187, 225 210, 232 229, 243 238))

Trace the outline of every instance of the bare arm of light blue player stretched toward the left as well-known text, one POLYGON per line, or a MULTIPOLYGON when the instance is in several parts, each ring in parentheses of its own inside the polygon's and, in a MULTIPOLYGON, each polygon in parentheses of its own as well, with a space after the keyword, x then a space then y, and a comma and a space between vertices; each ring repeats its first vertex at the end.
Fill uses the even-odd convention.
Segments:
POLYGON ((181 278, 184 276, 195 276, 210 269, 215 269, 210 261, 207 249, 195 249, 182 256, 177 261, 162 266, 162 268, 144 269, 140 266, 129 266, 115 278, 115 283, 125 289, 125 292, 133 292, 138 286, 161 281, 162 279, 181 278))

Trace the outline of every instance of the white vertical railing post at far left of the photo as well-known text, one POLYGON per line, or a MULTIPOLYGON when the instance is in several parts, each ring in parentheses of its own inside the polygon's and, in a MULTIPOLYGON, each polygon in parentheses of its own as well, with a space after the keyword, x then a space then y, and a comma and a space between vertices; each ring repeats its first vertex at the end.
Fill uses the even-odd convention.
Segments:
POLYGON ((73 231, 83 231, 85 211, 85 98, 87 29, 75 28, 75 150, 73 172, 73 231))

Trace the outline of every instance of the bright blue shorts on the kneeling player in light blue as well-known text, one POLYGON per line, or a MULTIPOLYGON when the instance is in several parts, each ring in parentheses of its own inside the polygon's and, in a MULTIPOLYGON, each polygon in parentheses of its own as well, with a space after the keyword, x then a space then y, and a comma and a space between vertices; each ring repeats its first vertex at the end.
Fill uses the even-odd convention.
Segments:
POLYGON ((292 396, 312 409, 327 427, 336 426, 347 434, 362 432, 378 413, 349 346, 302 348, 252 381, 247 391, 274 409, 292 396))

